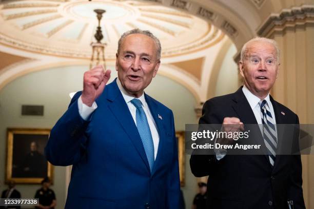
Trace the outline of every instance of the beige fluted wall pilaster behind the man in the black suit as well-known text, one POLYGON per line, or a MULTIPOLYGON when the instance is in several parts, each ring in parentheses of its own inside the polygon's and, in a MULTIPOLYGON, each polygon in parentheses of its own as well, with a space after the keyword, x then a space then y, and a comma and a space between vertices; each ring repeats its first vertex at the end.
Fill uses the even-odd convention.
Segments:
MULTIPOLYGON (((280 75, 273 95, 299 115, 300 123, 314 123, 314 27, 299 26, 274 33, 282 49, 280 75)), ((303 190, 307 208, 314 208, 314 156, 302 156, 303 190)))

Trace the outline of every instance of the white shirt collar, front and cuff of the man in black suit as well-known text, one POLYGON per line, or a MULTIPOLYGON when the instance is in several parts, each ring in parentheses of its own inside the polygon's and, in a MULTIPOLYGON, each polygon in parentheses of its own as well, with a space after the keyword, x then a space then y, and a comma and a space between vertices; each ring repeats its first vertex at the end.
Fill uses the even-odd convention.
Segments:
MULTIPOLYGON (((254 94, 252 94, 252 92, 250 92, 250 90, 248 90, 248 88, 244 85, 242 88, 243 94, 246 97, 247 101, 249 102, 249 105, 254 113, 254 116, 256 118, 256 121, 258 122, 258 124, 262 124, 262 117, 263 114, 261 112, 261 106, 260 106, 260 101, 263 101, 264 99, 267 101, 267 105, 269 107, 272 119, 273 119, 273 124, 276 124, 276 118, 275 118, 275 114, 273 111, 273 107, 272 107, 272 103, 270 101, 270 97, 269 97, 269 93, 267 94, 267 96, 264 99, 260 99, 259 97, 255 96, 254 94)), ((276 128, 276 126, 275 126, 276 128)), ((261 132, 263 134, 263 130, 262 127, 260 126, 261 132)), ((277 133, 277 128, 276 128, 276 133, 277 133)), ((223 157, 225 157, 225 155, 227 154, 226 150, 221 150, 221 149, 215 149, 215 154, 216 154, 216 159, 220 160, 223 157)))

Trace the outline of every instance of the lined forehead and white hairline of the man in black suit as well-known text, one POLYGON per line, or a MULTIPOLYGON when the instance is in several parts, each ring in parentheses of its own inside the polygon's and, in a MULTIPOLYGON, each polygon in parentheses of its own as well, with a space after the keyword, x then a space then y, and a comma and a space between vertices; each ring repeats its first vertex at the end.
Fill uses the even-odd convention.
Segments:
POLYGON ((260 56, 260 57, 277 57, 276 47, 266 41, 252 41, 248 43, 245 50, 245 56, 260 56))

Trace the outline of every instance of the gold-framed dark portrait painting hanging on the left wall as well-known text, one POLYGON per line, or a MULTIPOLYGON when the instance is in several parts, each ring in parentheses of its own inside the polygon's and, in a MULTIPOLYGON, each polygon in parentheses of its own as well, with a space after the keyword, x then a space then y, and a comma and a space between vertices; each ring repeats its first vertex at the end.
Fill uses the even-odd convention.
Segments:
POLYGON ((7 129, 6 182, 41 183, 53 180, 53 165, 44 156, 50 129, 7 129))

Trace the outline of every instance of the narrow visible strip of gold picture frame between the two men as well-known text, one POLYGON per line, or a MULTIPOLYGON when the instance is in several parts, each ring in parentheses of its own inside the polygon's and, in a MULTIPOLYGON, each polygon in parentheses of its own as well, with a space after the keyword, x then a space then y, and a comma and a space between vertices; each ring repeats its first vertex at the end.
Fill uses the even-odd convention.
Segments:
POLYGON ((184 186, 185 185, 185 132, 176 131, 175 138, 178 144, 180 185, 184 186))

